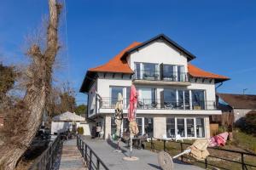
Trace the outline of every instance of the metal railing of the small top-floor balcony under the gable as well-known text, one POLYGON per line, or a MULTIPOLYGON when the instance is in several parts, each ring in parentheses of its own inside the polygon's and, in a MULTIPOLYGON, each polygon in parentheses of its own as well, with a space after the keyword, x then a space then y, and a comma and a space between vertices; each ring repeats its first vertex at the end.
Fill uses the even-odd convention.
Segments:
POLYGON ((169 71, 134 71, 136 80, 166 81, 166 82, 189 82, 187 72, 169 71))

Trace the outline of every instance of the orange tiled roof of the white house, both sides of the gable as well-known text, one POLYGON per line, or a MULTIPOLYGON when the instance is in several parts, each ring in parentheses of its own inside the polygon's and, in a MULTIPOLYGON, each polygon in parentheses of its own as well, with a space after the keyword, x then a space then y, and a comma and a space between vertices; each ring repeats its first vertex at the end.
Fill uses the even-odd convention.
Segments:
MULTIPOLYGON (((119 54, 113 57, 113 59, 110 59, 108 63, 104 65, 97 66, 95 68, 89 69, 89 71, 92 72, 121 72, 121 73, 129 73, 132 74, 133 71, 131 70, 131 67, 128 65, 126 60, 122 60, 122 56, 130 50, 131 48, 135 48, 138 45, 142 44, 141 42, 133 42, 131 45, 129 45, 127 48, 122 50, 119 54)), ((188 71, 189 75, 192 77, 205 77, 205 78, 215 78, 215 79, 224 79, 228 80, 229 77, 224 77, 221 75, 213 74, 208 71, 203 71, 200 68, 196 67, 195 65, 188 64, 188 71)))

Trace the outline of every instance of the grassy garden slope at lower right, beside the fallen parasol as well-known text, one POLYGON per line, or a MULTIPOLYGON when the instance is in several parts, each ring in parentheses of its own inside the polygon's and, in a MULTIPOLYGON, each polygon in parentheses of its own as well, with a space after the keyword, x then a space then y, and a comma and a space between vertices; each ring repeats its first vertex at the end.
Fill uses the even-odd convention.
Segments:
MULTIPOLYGON (((166 141, 166 152, 171 156, 176 156, 185 150, 189 145, 193 144, 195 140, 184 140, 182 142, 166 141)), ((145 148, 158 152, 164 150, 163 140, 152 140, 145 144, 145 148)), ((256 154, 256 137, 252 134, 241 132, 240 129, 233 130, 233 139, 228 140, 225 146, 217 148, 208 148, 210 156, 205 161, 195 161, 190 156, 184 155, 179 157, 180 160, 194 164, 199 167, 209 168, 218 167, 220 169, 248 169, 256 170, 256 167, 250 167, 248 165, 256 166, 256 156, 250 156, 249 154, 256 154), (235 151, 232 151, 235 150, 235 151), (243 153, 248 153, 243 154, 243 153), (243 156, 242 156, 243 155, 243 156), (241 163, 244 162, 244 168, 241 163), (207 166, 206 166, 207 162, 207 166), (246 168, 247 167, 247 168, 246 168)))

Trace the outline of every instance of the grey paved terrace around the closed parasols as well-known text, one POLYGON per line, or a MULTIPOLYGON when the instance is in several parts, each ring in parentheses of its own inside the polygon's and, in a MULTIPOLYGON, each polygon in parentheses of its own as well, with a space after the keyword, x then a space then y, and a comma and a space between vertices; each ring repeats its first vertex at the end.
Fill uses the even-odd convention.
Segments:
MULTIPOLYGON (((129 149, 127 144, 120 143, 121 153, 113 152, 116 149, 116 144, 113 142, 107 142, 101 139, 90 139, 89 137, 82 137, 84 142, 90 146, 92 150, 96 152, 102 161, 108 166, 110 170, 155 170, 161 169, 158 165, 157 154, 150 150, 133 150, 133 156, 139 158, 138 161, 123 161, 123 157, 129 156, 129 149)), ((201 167, 195 167, 193 165, 185 164, 182 161, 175 161, 175 170, 202 170, 201 167)))

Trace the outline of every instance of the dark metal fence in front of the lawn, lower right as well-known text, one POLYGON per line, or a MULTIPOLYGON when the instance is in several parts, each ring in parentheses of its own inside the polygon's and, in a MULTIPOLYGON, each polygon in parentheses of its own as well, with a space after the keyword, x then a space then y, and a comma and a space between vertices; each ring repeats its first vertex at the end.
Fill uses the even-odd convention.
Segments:
MULTIPOLYGON (((165 150, 166 152, 168 152, 167 150, 167 147, 166 147, 166 142, 171 142, 171 143, 175 143, 175 144, 178 144, 179 145, 179 150, 180 150, 180 153, 183 152, 183 150, 185 150, 189 145, 189 143, 185 143, 185 142, 176 142, 176 141, 172 141, 172 140, 166 140, 166 139, 152 139, 150 140, 150 148, 151 150, 155 150, 155 146, 154 146, 154 140, 160 140, 160 141, 163 141, 163 145, 162 145, 162 150, 165 150)), ((220 150, 220 151, 223 151, 223 152, 229 152, 231 154, 239 154, 240 155, 240 158, 239 160, 231 160, 231 159, 228 159, 222 155, 219 155, 219 156, 212 156, 210 154, 210 156, 207 156, 207 158, 205 159, 205 161, 197 161, 197 162, 200 162, 202 164, 205 165, 205 168, 209 168, 209 167, 218 167, 220 169, 225 169, 225 170, 233 170, 234 167, 222 167, 221 164, 212 164, 212 162, 210 162, 210 158, 214 158, 214 159, 218 159, 220 161, 228 161, 228 162, 233 162, 233 163, 237 163, 241 166, 241 169, 242 170, 248 170, 248 169, 256 169, 256 164, 251 164, 251 163, 247 163, 247 161, 245 161, 245 157, 246 156, 252 156, 253 157, 253 163, 256 163, 256 154, 253 154, 253 153, 248 153, 248 152, 243 152, 243 151, 238 151, 238 150, 226 150, 226 149, 221 149, 221 148, 216 148, 216 147, 209 147, 208 150, 220 150)), ((184 158, 188 158, 188 159, 191 159, 191 157, 189 158, 189 156, 181 156, 181 161, 184 161, 184 158)))

